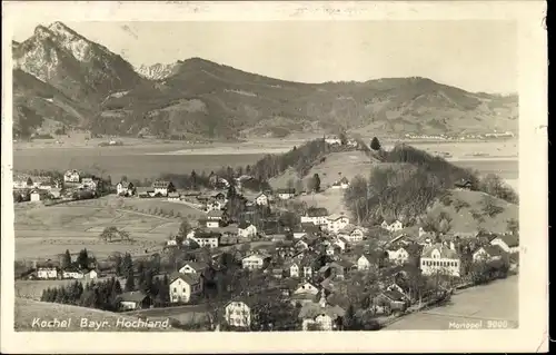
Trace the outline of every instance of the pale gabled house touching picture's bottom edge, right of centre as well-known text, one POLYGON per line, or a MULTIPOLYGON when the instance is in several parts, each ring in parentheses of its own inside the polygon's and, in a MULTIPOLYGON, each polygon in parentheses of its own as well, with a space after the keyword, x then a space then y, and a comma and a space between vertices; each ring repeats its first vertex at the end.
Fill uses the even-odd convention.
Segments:
POLYGON ((329 305, 322 293, 318 303, 305 303, 301 306, 299 318, 304 331, 336 331, 345 314, 346 312, 340 306, 329 305))

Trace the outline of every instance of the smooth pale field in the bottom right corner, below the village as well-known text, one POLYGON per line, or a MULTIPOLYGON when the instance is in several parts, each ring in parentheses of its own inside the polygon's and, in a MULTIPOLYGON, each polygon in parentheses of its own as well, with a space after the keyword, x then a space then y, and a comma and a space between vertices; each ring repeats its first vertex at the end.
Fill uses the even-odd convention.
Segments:
POLYGON ((518 276, 459 292, 448 305, 410 314, 388 325, 386 331, 449 329, 449 324, 479 324, 488 321, 517 327, 519 321, 518 276), (505 323, 507 322, 507 323, 505 323))

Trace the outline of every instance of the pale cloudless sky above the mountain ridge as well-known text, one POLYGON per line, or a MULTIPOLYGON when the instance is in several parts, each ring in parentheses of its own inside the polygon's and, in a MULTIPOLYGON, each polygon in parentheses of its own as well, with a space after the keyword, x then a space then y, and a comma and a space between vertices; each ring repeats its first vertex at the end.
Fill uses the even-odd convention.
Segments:
MULTIPOLYGON (((301 82, 425 77, 469 91, 517 92, 512 21, 64 23, 133 66, 200 57, 301 82)), ((18 21, 14 40, 37 24, 18 21)))

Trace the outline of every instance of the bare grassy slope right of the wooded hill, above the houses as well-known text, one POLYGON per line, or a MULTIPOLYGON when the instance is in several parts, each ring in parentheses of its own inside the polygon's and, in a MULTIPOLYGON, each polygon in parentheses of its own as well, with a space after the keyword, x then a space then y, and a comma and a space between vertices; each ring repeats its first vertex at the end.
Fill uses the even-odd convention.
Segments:
POLYGON ((508 231, 508 220, 519 220, 519 207, 503 199, 480 191, 450 190, 449 197, 438 199, 428 210, 434 219, 443 215, 449 216, 450 231, 475 233, 488 230, 490 233, 508 231), (492 204, 499 207, 498 213, 485 205, 492 204))

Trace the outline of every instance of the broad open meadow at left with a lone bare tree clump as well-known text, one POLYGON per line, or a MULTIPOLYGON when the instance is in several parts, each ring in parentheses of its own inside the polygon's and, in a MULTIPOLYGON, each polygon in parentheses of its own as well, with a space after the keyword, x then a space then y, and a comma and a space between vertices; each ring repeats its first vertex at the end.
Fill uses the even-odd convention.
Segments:
POLYGON ((183 204, 116 196, 50 207, 18 204, 16 259, 56 258, 66 249, 75 255, 82 248, 97 258, 113 252, 132 255, 153 253, 161 248, 170 234, 178 230, 181 221, 178 213, 191 220, 202 214, 183 204), (163 209, 167 215, 151 215, 155 208, 163 209), (169 210, 172 210, 173 217, 170 217, 169 210), (129 231, 132 240, 100 240, 99 235, 108 226, 129 231))

